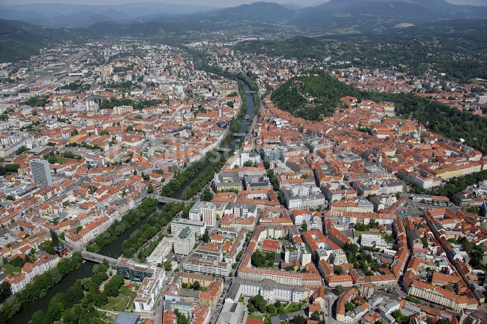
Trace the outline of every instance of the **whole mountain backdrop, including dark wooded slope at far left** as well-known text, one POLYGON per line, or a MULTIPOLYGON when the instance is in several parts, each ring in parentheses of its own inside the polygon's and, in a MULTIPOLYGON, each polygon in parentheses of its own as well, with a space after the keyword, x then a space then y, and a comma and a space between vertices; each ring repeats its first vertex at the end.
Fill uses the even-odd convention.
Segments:
MULTIPOLYGON (((1 52, 8 53, 21 48, 21 44, 35 49, 67 35, 76 35, 77 39, 177 37, 189 31, 219 30, 247 30, 249 36, 377 34, 405 24, 486 17, 487 6, 455 5, 445 0, 330 0, 308 7, 296 3, 254 2, 229 8, 156 2, 9 5, 0 6, 0 18, 9 19, 0 19, 0 45, 1 52), (29 23, 42 27, 33 28, 29 23)), ((26 55, 8 56, 25 58, 26 55)), ((3 55, 0 57, 1 61, 5 59, 3 55)))

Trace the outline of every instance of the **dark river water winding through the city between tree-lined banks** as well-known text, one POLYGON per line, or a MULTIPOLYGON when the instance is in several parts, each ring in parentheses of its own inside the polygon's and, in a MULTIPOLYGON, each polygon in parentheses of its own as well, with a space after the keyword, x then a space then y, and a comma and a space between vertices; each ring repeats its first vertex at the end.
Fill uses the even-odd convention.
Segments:
MULTIPOLYGON (((198 57, 198 62, 201 65, 202 63, 202 58, 198 57)), ((245 101, 247 103, 247 111, 246 114, 249 116, 252 116, 254 113, 255 109, 255 102, 254 102, 254 97, 252 93, 250 92, 250 87, 248 86, 247 83, 244 82, 244 90, 245 90, 245 101)), ((248 123, 249 121, 245 121, 244 118, 242 119, 243 123, 240 124, 240 133, 245 133, 247 130, 248 123)), ((237 140, 234 139, 228 146, 230 148, 233 148, 236 144, 237 140)), ((218 158, 220 158, 220 153, 218 153, 218 158)), ((205 168, 202 168, 204 170, 205 168)), ((201 172, 201 171, 200 171, 201 172)), ((195 177, 197 174, 195 175, 195 177)), ((181 198, 181 194, 183 191, 186 189, 186 187, 189 185, 191 181, 188 181, 185 185, 181 187, 180 190, 175 192, 171 197, 172 198, 181 198)), ((149 217, 147 216, 146 218, 143 218, 140 222, 137 224, 133 225, 131 228, 129 228, 125 233, 121 234, 117 240, 109 243, 108 245, 104 246, 100 251, 97 253, 106 255, 112 258, 117 258, 118 256, 122 255, 122 242, 128 238, 130 238, 130 235, 135 232, 136 230, 140 229, 142 225, 146 224, 149 221, 149 217)), ((73 286, 73 284, 76 282, 76 280, 81 279, 81 278, 86 278, 86 277, 91 277, 92 276, 92 269, 95 263, 93 262, 84 262, 79 269, 73 270, 71 273, 69 273, 66 277, 63 278, 63 280, 58 283, 56 286, 53 288, 49 289, 47 292, 47 295, 37 299, 35 302, 25 306, 20 313, 12 317, 8 323, 9 324, 26 324, 30 321, 32 315, 39 309, 42 309, 44 311, 47 311, 47 307, 49 306, 49 302, 51 299, 58 293, 58 292, 66 292, 68 288, 73 286)))

